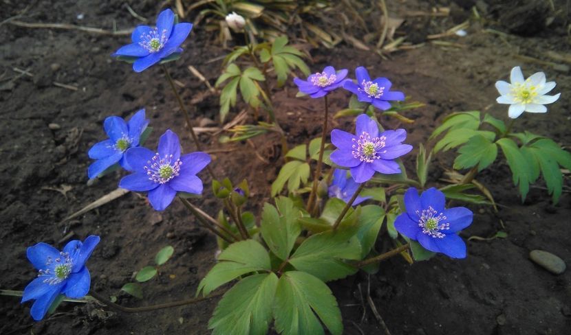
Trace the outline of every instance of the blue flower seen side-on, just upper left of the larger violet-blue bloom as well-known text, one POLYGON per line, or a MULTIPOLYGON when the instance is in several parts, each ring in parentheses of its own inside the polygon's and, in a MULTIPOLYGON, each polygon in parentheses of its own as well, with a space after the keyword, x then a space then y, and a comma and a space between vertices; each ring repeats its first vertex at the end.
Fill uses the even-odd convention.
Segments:
POLYGON ((148 124, 149 120, 144 118, 144 109, 133 115, 127 123, 117 116, 107 117, 103 122, 103 128, 109 139, 96 143, 87 153, 89 158, 97 160, 87 169, 89 179, 95 178, 115 163, 127 169, 125 151, 139 145, 141 134, 147 129, 148 124))

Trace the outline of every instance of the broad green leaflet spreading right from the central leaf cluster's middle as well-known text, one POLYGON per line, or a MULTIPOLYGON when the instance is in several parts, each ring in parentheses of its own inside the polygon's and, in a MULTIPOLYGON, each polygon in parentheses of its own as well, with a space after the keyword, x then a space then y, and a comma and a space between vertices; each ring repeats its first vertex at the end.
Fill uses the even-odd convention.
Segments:
POLYGON ((345 278, 357 269, 342 259, 360 259, 357 238, 344 231, 325 231, 303 241, 290 257, 290 264, 323 281, 345 278))

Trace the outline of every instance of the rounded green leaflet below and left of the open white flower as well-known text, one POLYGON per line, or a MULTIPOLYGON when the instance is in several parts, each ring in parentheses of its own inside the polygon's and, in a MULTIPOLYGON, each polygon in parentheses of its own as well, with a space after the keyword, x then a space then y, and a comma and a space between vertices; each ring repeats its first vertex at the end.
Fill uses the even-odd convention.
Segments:
POLYGON ((484 170, 497 157, 497 146, 482 135, 471 137, 462 148, 458 150, 458 157, 454 160, 456 170, 478 167, 478 172, 484 170))

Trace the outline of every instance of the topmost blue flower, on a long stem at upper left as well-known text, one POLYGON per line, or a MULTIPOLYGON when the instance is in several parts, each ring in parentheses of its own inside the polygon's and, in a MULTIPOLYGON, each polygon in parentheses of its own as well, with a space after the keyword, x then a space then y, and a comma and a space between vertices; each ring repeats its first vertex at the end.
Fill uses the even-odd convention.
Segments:
POLYGON ((133 43, 120 47, 111 56, 133 58, 133 70, 141 72, 173 54, 180 54, 180 45, 193 29, 191 23, 175 24, 172 10, 163 10, 157 18, 157 26, 139 25, 131 34, 133 43))

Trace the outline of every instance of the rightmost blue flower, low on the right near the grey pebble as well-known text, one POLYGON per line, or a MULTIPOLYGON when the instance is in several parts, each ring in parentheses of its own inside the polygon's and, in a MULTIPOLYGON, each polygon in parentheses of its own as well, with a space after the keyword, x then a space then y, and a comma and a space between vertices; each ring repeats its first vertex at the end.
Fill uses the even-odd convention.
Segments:
POLYGON ((396 230, 435 253, 452 258, 466 257, 466 244, 457 232, 472 223, 473 213, 466 207, 444 208, 444 194, 434 187, 422 192, 416 188, 405 193, 407 211, 395 221, 396 230))

